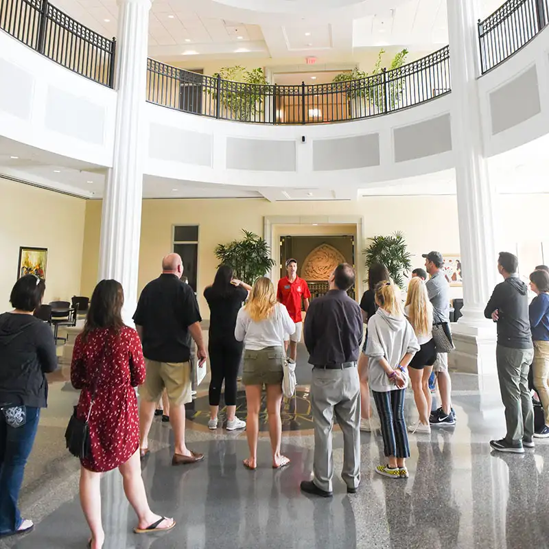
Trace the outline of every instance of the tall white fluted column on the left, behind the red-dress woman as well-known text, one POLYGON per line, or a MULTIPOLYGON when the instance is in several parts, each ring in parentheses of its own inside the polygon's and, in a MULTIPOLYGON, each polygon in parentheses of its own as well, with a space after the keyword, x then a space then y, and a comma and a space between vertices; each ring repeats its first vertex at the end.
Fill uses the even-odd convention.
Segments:
POLYGON ((122 284, 123 317, 130 325, 137 304, 150 7, 151 0, 119 0, 114 159, 101 224, 99 279, 122 284))

